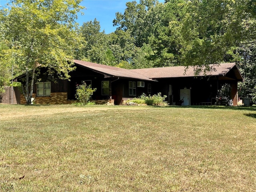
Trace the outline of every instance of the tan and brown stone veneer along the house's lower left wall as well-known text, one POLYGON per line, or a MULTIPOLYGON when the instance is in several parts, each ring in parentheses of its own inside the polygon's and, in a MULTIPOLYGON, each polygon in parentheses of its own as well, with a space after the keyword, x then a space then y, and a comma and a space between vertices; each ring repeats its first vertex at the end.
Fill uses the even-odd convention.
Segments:
MULTIPOLYGON (((68 100, 68 93, 67 92, 57 92, 57 93, 51 93, 51 96, 45 96, 45 97, 38 97, 36 94, 33 93, 34 104, 41 104, 41 105, 47 105, 47 104, 72 104, 75 103, 76 100, 68 100)), ((95 102, 95 104, 110 104, 114 105, 114 99, 107 99, 107 100, 92 100, 92 102, 95 102)), ((26 100, 24 96, 20 95, 20 104, 26 104, 26 100)))

